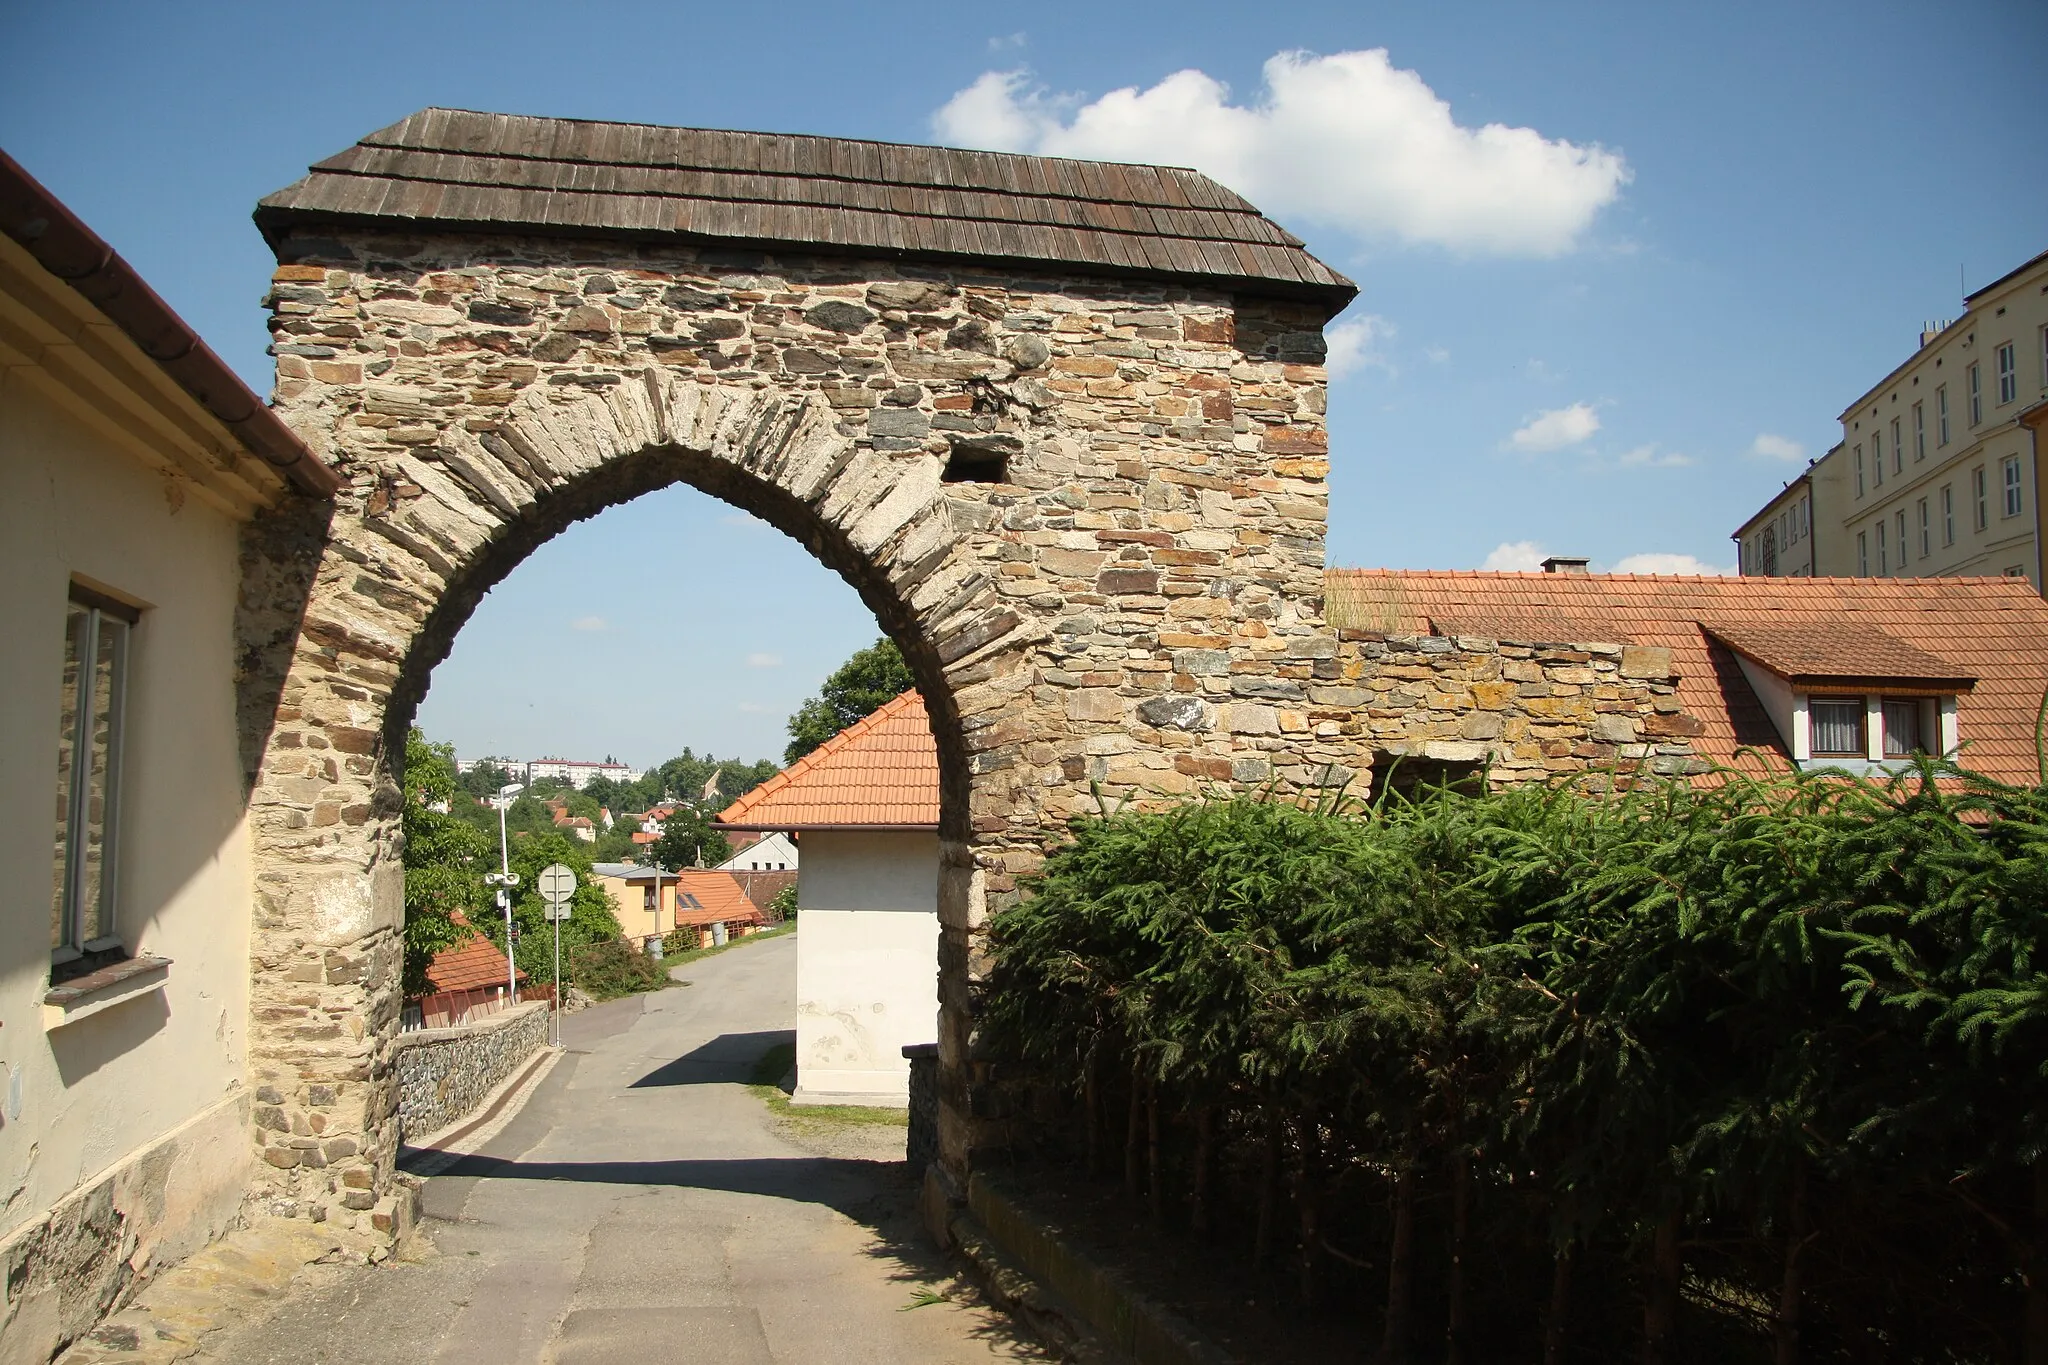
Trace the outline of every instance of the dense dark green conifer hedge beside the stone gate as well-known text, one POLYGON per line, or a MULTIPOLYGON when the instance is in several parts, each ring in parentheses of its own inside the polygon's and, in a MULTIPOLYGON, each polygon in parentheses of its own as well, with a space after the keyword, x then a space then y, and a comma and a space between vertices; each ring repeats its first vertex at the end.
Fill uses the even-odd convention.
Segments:
POLYGON ((2011 1359, 2048 792, 1724 778, 1081 821, 991 921, 983 1044, 1157 1220, 1378 1302, 1382 1359, 2011 1359))

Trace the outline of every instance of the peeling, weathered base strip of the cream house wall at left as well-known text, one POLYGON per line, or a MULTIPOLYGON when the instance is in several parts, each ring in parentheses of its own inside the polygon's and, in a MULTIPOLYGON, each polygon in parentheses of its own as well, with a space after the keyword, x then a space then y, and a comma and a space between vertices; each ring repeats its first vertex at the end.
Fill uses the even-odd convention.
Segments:
POLYGON ((0 1361, 47 1361, 162 1271, 231 1232, 250 1183, 236 1091, 0 1242, 0 1361))

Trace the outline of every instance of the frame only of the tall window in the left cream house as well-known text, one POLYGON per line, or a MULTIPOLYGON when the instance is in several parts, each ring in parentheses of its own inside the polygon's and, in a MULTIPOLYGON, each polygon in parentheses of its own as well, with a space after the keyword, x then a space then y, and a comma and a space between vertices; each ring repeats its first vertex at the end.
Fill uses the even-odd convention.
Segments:
MULTIPOLYGON (((100 649, 100 628, 106 622, 119 622, 115 632, 115 657, 111 663, 111 684, 106 698, 106 763, 100 794, 100 882, 98 882, 98 905, 94 907, 98 919, 94 937, 86 937, 86 909, 80 902, 84 890, 86 862, 80 857, 80 833, 88 821, 90 804, 90 782, 80 782, 78 761, 82 753, 90 753, 88 737, 98 726, 98 716, 92 706, 84 700, 72 706, 72 737, 70 737, 70 763, 72 774, 68 778, 68 788, 63 792, 63 880, 51 886, 51 978, 61 980, 66 976, 76 976, 80 972, 92 970, 109 958, 121 958, 125 945, 121 939, 121 776, 123 759, 127 749, 127 694, 129 681, 135 671, 135 628, 141 624, 141 612, 119 598, 111 598, 98 589, 86 587, 84 583, 72 583, 66 593, 66 608, 82 608, 84 616, 78 618, 78 630, 84 636, 88 651, 78 661, 76 686, 86 686, 86 679, 98 669, 98 649, 100 649)), ((72 614, 66 610, 66 649, 72 649, 72 614)), ((59 710, 61 716, 61 710, 59 710)), ((63 759, 59 757, 59 774, 63 759)), ((63 778, 59 778, 61 782, 63 778)))

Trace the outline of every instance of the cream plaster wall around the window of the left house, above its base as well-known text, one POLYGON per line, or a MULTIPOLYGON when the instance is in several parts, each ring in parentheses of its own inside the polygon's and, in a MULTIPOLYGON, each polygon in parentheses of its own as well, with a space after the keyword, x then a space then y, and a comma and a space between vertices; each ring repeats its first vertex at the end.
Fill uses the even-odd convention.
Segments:
MULTIPOLYGON (((236 741, 238 524, 180 491, 0 370, 0 1240, 139 1148, 242 1103, 252 874, 236 741), (117 929, 172 968, 160 988, 47 1027, 74 577, 143 606, 117 929)), ((195 1218, 233 1209, 225 1191, 240 1193, 250 1160, 238 1142, 209 1158, 207 1189, 180 1197, 195 1218)))

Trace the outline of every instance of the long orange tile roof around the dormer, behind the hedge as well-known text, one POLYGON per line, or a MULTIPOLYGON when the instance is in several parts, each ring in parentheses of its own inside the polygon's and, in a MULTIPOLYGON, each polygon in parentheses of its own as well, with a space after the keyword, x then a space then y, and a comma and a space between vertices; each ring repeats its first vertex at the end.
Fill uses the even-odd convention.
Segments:
POLYGON ((1559 620, 1569 630, 1599 624, 1593 639, 1575 643, 1663 645, 1679 673, 1679 702, 1706 726, 1694 747, 1718 761, 1733 761, 1745 745, 1780 755, 1784 745, 1735 651, 1714 634, 1845 639, 1837 628, 1868 630, 1976 677, 1958 702, 1966 765, 2003 782, 2038 780, 2034 714, 2048 688, 2048 602, 2025 579, 1331 569, 1325 596, 1337 628, 1430 634, 1432 622, 1559 620))

